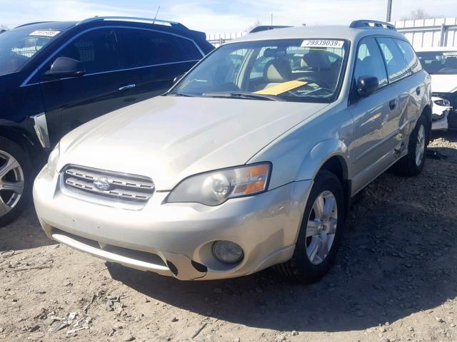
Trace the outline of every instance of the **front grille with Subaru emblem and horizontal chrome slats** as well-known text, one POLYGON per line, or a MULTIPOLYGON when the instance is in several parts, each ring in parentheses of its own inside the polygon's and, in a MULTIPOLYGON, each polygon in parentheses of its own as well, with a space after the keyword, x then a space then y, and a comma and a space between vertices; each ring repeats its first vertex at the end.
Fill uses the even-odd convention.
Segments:
POLYGON ((154 182, 148 177, 69 165, 61 174, 68 192, 133 209, 143 207, 154 194, 154 182))

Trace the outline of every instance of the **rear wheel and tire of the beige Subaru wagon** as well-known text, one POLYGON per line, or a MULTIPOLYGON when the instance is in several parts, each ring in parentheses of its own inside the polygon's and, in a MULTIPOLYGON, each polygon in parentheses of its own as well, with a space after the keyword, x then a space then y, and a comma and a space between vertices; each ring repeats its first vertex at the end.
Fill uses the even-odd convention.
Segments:
POLYGON ((393 167, 393 172, 401 177, 414 177, 423 170, 426 162, 428 122, 424 115, 421 115, 416 127, 411 132, 408 141, 408 154, 398 160, 393 167))

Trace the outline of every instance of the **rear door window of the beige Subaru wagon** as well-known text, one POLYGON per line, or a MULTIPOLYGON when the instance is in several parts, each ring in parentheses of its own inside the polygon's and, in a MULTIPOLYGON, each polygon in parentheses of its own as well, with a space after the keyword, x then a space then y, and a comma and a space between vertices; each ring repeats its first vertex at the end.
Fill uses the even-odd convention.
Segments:
POLYGON ((388 81, 399 81, 411 73, 400 48, 392 38, 376 38, 386 61, 388 81))

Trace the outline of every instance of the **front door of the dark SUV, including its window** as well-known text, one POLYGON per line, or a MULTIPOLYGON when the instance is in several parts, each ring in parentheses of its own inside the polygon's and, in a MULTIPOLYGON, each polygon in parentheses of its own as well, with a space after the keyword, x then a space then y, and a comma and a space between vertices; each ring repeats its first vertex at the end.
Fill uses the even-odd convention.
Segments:
POLYGON ((119 46, 112 28, 95 28, 67 41, 41 68, 41 90, 51 145, 70 130, 131 103, 135 79, 120 71, 119 46), (45 75, 58 57, 74 58, 84 66, 84 76, 49 78, 45 75))

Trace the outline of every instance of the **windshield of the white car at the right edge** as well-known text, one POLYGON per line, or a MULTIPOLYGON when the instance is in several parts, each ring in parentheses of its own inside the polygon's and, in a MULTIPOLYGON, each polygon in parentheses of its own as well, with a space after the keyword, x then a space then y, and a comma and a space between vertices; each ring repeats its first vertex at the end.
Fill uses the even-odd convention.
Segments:
POLYGON ((418 52, 417 56, 430 74, 457 75, 457 51, 418 52))

